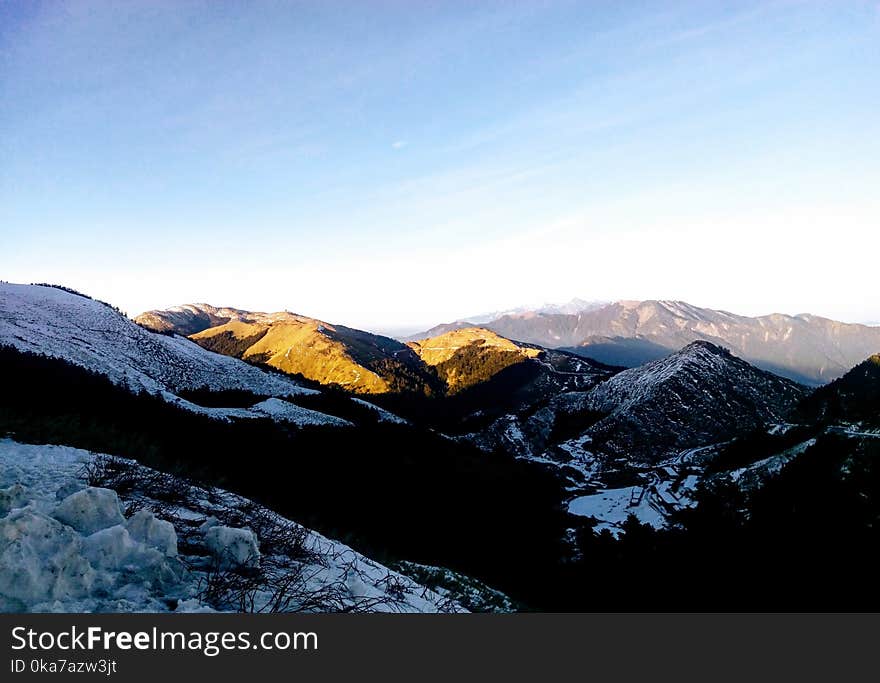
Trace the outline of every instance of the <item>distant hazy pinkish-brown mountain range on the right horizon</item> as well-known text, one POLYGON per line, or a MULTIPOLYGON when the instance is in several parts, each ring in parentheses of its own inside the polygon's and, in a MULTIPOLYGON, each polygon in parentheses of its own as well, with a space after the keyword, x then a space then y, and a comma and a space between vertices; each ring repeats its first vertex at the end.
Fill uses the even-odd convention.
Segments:
MULTIPOLYGON (((424 336, 462 326, 441 325, 424 336)), ((876 327, 808 314, 750 318, 682 301, 618 301, 575 314, 530 311, 483 326, 509 339, 627 367, 704 340, 730 348, 760 368, 813 385, 840 377, 880 350, 876 327)))

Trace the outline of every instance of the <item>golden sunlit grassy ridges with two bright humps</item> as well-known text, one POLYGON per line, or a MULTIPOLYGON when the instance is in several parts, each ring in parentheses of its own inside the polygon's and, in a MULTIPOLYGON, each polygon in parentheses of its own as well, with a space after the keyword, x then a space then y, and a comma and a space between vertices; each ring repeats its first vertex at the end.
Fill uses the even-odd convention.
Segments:
POLYGON ((473 326, 402 343, 286 311, 260 313, 208 304, 149 311, 135 322, 166 335, 188 335, 209 351, 301 380, 374 396, 458 394, 521 363, 531 371, 518 369, 526 383, 533 383, 532 375, 562 373, 570 384, 572 377, 603 367, 473 326))

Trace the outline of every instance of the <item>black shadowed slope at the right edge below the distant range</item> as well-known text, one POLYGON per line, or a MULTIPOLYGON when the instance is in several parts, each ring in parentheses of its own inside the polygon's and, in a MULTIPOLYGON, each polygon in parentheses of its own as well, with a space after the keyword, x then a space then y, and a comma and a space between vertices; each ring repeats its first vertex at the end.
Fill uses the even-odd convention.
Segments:
POLYGON ((797 416, 824 424, 880 427, 880 354, 817 389, 798 406, 797 416))

